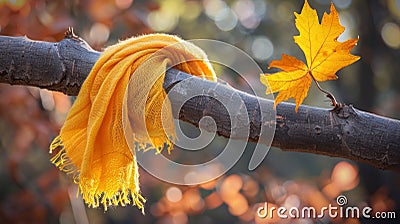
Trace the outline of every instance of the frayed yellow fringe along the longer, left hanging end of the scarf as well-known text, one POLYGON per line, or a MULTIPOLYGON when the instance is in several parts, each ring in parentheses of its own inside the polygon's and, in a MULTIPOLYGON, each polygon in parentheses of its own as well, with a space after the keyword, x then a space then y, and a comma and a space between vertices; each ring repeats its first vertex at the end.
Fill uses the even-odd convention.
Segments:
MULTIPOLYGON (((83 200, 89 207, 97 208, 102 206, 104 211, 107 211, 110 206, 126 206, 132 203, 132 205, 137 206, 144 214, 144 203, 146 202, 146 199, 138 192, 132 192, 130 189, 124 188, 111 194, 105 194, 104 192, 101 194, 88 193, 94 192, 95 189, 83 185, 82 182, 79 181, 79 170, 67 156, 60 136, 54 138, 50 145, 49 153, 53 155, 50 159, 51 163, 66 174, 72 175, 74 183, 79 186, 79 191, 83 200)), ((79 194, 79 192, 77 194, 79 194)))

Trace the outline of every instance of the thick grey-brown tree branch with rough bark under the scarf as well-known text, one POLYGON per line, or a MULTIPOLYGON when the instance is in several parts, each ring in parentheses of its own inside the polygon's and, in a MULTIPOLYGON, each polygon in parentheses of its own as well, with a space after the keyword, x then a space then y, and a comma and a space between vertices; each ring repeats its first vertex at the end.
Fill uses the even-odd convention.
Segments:
MULTIPOLYGON (((32 41, 26 37, 0 36, 0 82, 28 85, 77 95, 100 52, 73 33, 60 42, 32 41)), ((209 96, 195 97, 182 104, 185 95, 206 91, 209 95, 238 94, 244 101, 250 119, 250 135, 243 140, 257 142, 261 127, 274 125, 272 146, 285 151, 307 152, 369 163, 381 169, 400 170, 400 121, 344 106, 337 111, 301 106, 298 113, 294 104, 281 103, 276 109, 276 120, 270 113, 272 101, 234 90, 220 83, 199 78, 176 86, 191 78, 189 74, 168 70, 164 89, 173 91, 171 100, 174 114, 180 120, 198 126, 203 116, 211 116, 217 133, 231 136, 228 112, 218 100, 209 96), (266 109, 268 108, 268 109, 266 109), (261 114, 267 114, 261 120, 261 114)), ((208 127, 203 127, 207 129, 208 127)))

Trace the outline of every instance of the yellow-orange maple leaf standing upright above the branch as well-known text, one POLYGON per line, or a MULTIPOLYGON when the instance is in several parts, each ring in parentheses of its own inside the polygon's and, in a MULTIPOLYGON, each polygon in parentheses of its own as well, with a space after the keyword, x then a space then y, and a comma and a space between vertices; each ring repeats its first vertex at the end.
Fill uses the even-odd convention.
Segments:
POLYGON ((281 60, 274 60, 269 65, 269 68, 282 71, 262 74, 260 81, 267 86, 267 94, 279 92, 274 107, 284 100, 294 98, 297 112, 313 79, 317 85, 318 81, 337 79, 336 72, 339 69, 356 62, 360 57, 350 54, 350 50, 357 45, 358 38, 345 42, 337 41, 345 28, 339 22, 339 15, 333 3, 330 14, 324 13, 321 23, 317 12, 310 7, 307 0, 301 13, 295 13, 295 16, 296 28, 300 35, 295 36, 294 41, 303 51, 307 64, 283 54, 281 60))

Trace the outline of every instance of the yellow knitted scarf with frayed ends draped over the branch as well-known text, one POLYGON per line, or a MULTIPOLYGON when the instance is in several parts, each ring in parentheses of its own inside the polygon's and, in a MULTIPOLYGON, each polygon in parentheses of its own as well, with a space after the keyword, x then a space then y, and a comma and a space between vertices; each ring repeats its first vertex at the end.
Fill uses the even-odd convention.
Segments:
POLYGON ((144 116, 145 124, 134 126, 134 136, 130 137, 141 149, 150 145, 160 152, 166 143, 170 150, 172 145, 168 137, 174 138, 175 133, 171 106, 162 84, 167 66, 176 62, 182 62, 174 66, 176 69, 216 80, 200 48, 166 34, 130 38, 110 46, 92 68, 60 135, 50 146, 51 162, 73 175, 89 207, 102 205, 107 210, 111 205, 132 203, 143 211, 145 199, 140 195, 138 165, 123 131, 124 93, 130 78, 135 76, 137 86, 130 86, 129 94, 137 95, 130 95, 129 103, 137 106, 133 108, 146 110, 129 112, 139 120, 144 116), (160 49, 163 49, 161 53, 160 49), (157 57, 154 58, 155 52, 157 57), (140 66, 143 62, 145 66, 140 66), (149 69, 153 72, 146 72, 149 69), (141 89, 151 85, 148 95, 144 95, 141 89), (162 107, 164 99, 168 102, 166 107, 162 107))

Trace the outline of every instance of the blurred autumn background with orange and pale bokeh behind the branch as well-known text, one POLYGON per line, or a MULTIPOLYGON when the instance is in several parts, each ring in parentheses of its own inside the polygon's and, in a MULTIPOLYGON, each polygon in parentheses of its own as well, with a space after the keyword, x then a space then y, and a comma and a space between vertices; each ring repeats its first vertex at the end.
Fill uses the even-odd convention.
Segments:
MULTIPOLYGON (((359 35, 353 53, 362 58, 341 70, 339 80, 323 86, 341 102, 400 119, 400 1, 333 2, 346 27, 340 40, 359 35)), ((330 1, 310 0, 310 4, 321 17, 330 1)), ((101 50, 120 39, 167 32, 185 39, 233 44, 266 72, 269 62, 282 53, 304 58, 292 37, 297 35, 293 12, 300 12, 302 5, 297 0, 0 0, 0 34, 60 41, 67 27, 73 26, 94 49, 101 50)), ((240 80, 226 78, 240 88, 240 80)), ((329 106, 314 87, 305 103, 329 106)), ((145 216, 131 206, 106 213, 87 208, 76 197, 70 178, 49 162, 48 145, 70 106, 70 99, 57 92, 0 85, 0 222, 266 223, 279 220, 256 216, 257 207, 265 201, 320 208, 335 204, 342 193, 350 205, 369 205, 374 212, 397 211, 400 215, 397 173, 279 149, 272 149, 262 165, 250 172, 251 144, 226 175, 200 186, 171 185, 141 170, 142 191, 148 199, 145 216)), ((223 144, 224 140, 219 141, 223 144)), ((350 220, 326 217, 321 221, 350 220)))

